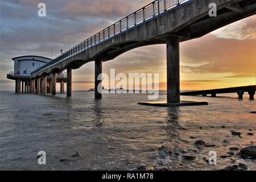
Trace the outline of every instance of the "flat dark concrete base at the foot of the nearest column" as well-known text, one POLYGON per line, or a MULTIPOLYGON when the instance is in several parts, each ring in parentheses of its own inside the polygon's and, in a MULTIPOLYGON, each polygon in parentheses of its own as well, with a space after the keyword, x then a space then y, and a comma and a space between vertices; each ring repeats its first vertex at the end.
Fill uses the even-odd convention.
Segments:
POLYGON ((208 102, 193 102, 193 101, 180 101, 180 103, 166 103, 163 102, 139 102, 138 104, 145 106, 156 106, 156 107, 180 107, 180 106, 200 106, 208 105, 208 102))

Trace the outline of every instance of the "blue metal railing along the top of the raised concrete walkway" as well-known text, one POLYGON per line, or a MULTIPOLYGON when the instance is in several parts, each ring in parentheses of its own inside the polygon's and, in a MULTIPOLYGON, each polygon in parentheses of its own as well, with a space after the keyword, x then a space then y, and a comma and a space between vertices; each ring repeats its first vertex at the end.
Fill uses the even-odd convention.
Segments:
POLYGON ((191 0, 156 0, 148 4, 147 6, 142 7, 142 9, 135 11, 133 14, 130 14, 129 16, 126 16, 125 18, 119 20, 117 23, 112 24, 108 28, 105 28, 104 30, 98 32, 89 39, 86 39, 84 42, 64 52, 60 56, 57 56, 51 62, 43 65, 43 67, 40 67, 39 69, 36 69, 31 74, 39 72, 40 70, 47 68, 50 65, 58 63, 59 61, 67 59, 68 57, 71 57, 73 55, 76 55, 77 53, 89 49, 99 43, 102 43, 105 40, 111 39, 113 36, 129 30, 137 24, 141 24, 142 22, 151 19, 156 15, 160 15, 165 11, 173 9, 174 7, 179 6, 181 3, 188 1, 191 0))

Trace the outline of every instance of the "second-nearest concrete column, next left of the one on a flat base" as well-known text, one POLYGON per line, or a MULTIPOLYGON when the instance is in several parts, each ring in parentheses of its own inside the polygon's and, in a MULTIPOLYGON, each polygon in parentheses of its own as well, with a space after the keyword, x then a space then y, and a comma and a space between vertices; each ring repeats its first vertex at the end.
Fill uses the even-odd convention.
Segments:
POLYGON ((95 91, 94 91, 94 97, 96 99, 101 99, 102 98, 102 93, 100 93, 98 90, 98 85, 101 85, 102 78, 98 80, 98 76, 102 73, 102 60, 95 60, 95 75, 94 75, 94 86, 95 86, 95 91))

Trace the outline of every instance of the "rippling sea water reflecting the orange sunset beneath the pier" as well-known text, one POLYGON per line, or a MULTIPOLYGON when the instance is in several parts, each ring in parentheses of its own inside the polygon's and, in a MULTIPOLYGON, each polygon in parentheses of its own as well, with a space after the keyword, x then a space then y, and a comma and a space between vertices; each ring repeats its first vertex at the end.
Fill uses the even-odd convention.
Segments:
MULTIPOLYGON (((209 106, 152 107, 138 105, 146 94, 105 94, 94 100, 93 92, 39 96, 1 92, 0 169, 134 170, 147 164, 155 169, 221 169, 241 160, 238 155, 221 158, 230 147, 256 142, 255 101, 225 97, 181 97, 207 101, 209 106), (223 127, 225 125, 225 127, 223 127), (232 136, 238 130, 242 138, 232 136), (254 136, 246 135, 249 130, 254 136), (197 147, 204 140, 215 147, 197 147), (226 142, 224 143, 224 140, 226 142), (46 151, 47 165, 36 155, 46 151), (216 151, 217 166, 204 158, 216 151), (76 151, 81 156, 72 157, 76 151), (196 155, 189 161, 184 154, 196 155)), ((166 95, 160 94, 159 100, 166 95)), ((236 152, 235 152, 236 153, 236 152)), ((250 169, 255 161, 243 160, 250 169)))

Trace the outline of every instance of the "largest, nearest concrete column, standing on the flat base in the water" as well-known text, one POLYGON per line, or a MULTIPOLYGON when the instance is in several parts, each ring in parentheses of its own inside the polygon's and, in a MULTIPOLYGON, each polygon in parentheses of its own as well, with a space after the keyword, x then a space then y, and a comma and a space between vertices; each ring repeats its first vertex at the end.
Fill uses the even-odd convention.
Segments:
POLYGON ((167 44, 167 103, 180 102, 180 39, 172 37, 167 44))

